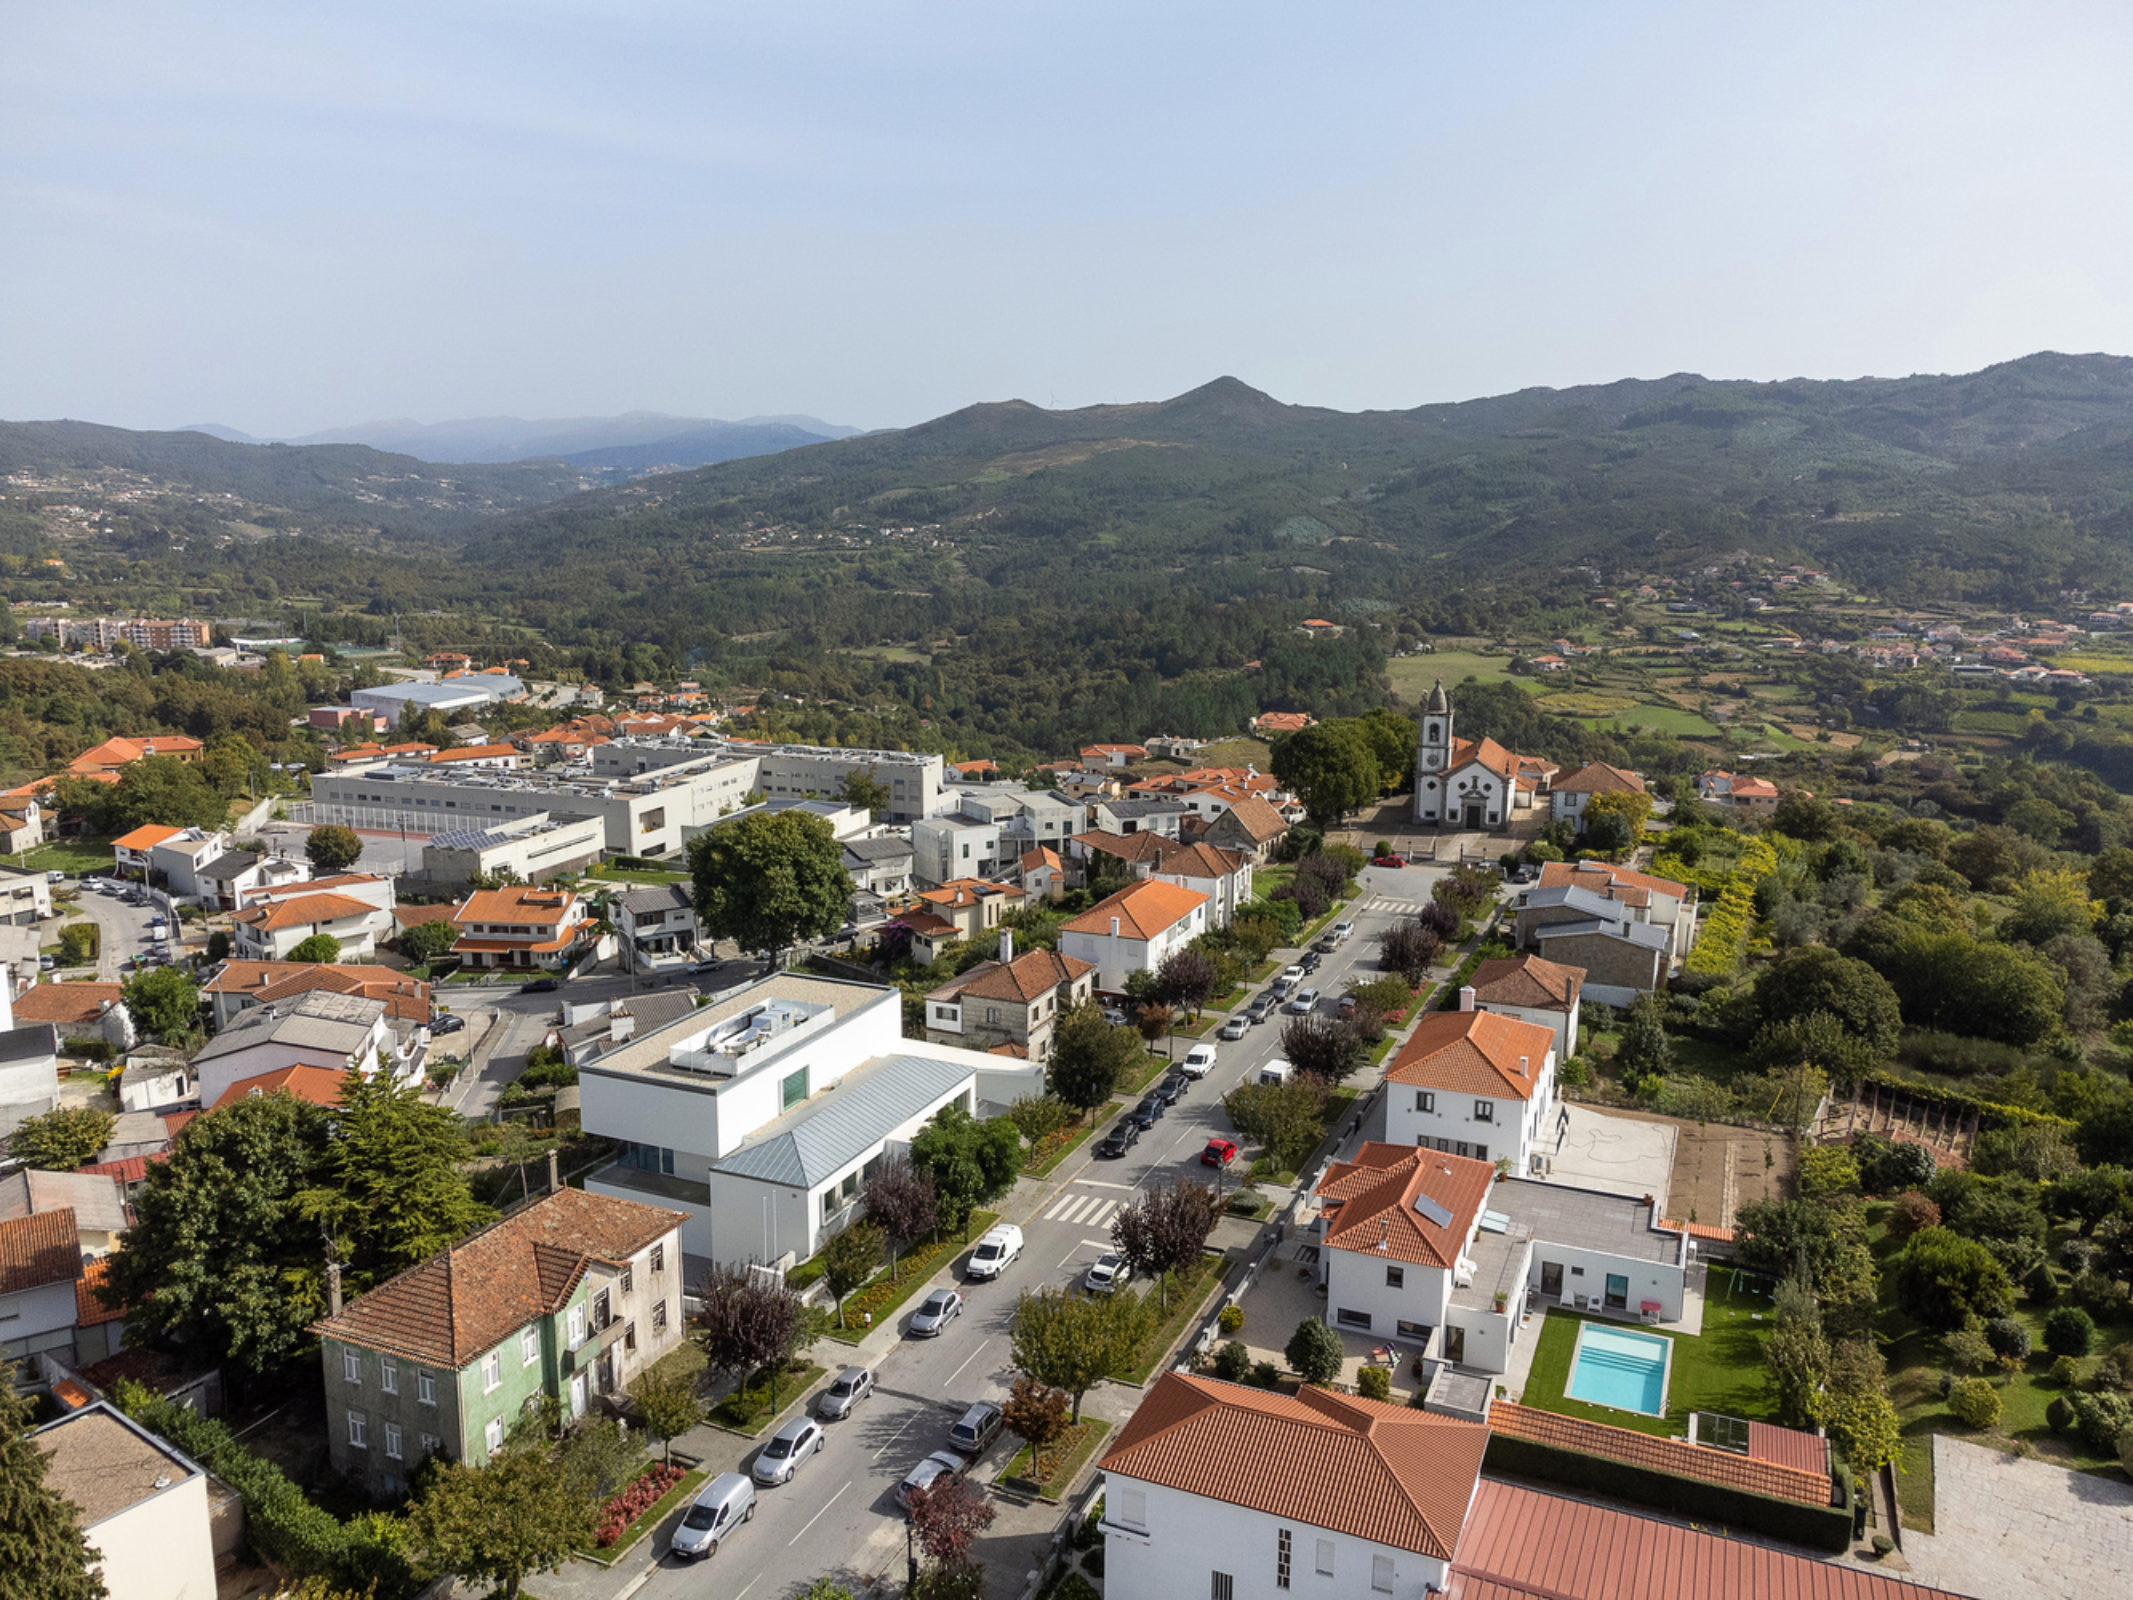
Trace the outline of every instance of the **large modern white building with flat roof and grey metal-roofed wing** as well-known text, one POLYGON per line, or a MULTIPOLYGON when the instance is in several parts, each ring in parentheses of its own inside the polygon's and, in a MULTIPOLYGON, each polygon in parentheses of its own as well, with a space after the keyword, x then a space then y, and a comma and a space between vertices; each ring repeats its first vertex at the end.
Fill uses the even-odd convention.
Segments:
POLYGON ((691 1257, 806 1261, 941 1107, 1007 1107, 1043 1077, 904 1039, 894 988, 772 973, 578 1067, 587 1133, 623 1143, 587 1190, 680 1212, 691 1257))

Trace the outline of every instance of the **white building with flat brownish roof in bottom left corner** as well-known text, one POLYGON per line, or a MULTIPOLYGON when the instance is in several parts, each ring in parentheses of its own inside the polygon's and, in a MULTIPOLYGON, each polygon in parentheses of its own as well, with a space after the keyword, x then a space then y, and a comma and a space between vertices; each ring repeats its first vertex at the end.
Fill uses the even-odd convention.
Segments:
POLYGON ((207 1472, 105 1402, 32 1436, 111 1600, 215 1600, 207 1472))

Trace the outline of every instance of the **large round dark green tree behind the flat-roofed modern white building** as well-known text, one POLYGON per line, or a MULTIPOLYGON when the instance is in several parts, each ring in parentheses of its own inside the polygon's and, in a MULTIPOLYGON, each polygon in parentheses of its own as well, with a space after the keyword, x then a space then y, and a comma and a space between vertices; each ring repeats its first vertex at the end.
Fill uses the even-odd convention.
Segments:
POLYGON ((706 939, 742 949, 787 949, 821 939, 851 915, 845 847, 804 811, 757 811, 689 841, 695 915, 706 939))

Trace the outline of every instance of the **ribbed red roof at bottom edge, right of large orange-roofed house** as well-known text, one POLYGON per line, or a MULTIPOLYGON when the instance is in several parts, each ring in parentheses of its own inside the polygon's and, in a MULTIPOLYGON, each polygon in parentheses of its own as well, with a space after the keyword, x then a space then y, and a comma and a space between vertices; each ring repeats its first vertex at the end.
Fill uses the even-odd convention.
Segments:
POLYGON ((1945 1589, 1482 1478, 1448 1600, 1954 1600, 1945 1589))

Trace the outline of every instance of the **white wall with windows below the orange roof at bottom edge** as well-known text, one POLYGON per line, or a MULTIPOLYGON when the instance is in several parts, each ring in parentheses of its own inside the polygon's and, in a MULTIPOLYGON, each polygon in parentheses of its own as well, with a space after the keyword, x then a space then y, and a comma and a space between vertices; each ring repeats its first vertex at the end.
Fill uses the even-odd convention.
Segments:
POLYGON ((1446 1562, 1376 1545, 1301 1521, 1222 1500, 1190 1495, 1156 1483, 1107 1474, 1105 1481, 1105 1600, 1205 1600, 1214 1572, 1229 1572, 1235 1600, 1376 1600, 1374 1557, 1393 1562, 1391 1600, 1423 1600, 1442 1587, 1446 1562), (1148 1495, 1145 1534, 1120 1527, 1135 1491, 1148 1495), (1276 1587, 1280 1530, 1290 1530, 1288 1587, 1276 1587), (1318 1540, 1333 1551, 1333 1574, 1318 1574, 1318 1540))

